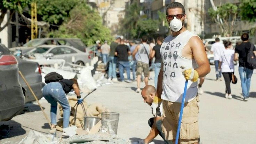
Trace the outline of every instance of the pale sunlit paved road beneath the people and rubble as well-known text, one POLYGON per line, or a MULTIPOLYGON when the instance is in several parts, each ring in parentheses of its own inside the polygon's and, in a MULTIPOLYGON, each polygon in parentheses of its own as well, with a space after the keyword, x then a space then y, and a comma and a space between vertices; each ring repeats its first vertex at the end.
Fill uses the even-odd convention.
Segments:
MULTIPOLYGON (((203 84, 204 94, 200 95, 199 129, 203 144, 254 144, 256 135, 256 71, 251 80, 251 93, 248 102, 241 98, 240 80, 231 85, 233 99, 225 98, 224 81, 215 81, 215 69, 207 75, 203 84)), ((235 75, 239 78, 236 67, 235 75)), ((154 77, 154 73, 151 72, 154 77)), ((154 85, 154 81, 149 81, 154 85)), ((144 87, 144 83, 142 83, 144 87)), ((143 103, 140 94, 135 93, 136 82, 115 83, 99 87, 88 96, 88 104, 101 103, 112 112, 120 113, 118 135, 137 140, 145 138, 150 128, 147 120, 152 117, 150 107, 143 103)), ((49 115, 49 104, 40 100, 49 115)), ((7 122, 0 122, 0 143, 18 143, 30 129, 48 133, 49 126, 37 103, 29 103, 27 112, 7 122)), ((61 133, 58 133, 60 135, 61 133)), ((163 143, 161 137, 155 138, 156 144, 163 143)))

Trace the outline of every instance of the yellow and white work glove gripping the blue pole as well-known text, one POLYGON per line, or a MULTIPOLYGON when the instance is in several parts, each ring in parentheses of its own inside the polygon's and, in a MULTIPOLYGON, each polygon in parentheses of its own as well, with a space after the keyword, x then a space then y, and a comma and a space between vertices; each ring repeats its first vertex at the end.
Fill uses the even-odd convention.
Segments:
POLYGON ((191 80, 193 82, 196 82, 199 75, 196 70, 193 69, 193 67, 185 67, 180 66, 182 68, 182 74, 184 75, 186 80, 191 80))

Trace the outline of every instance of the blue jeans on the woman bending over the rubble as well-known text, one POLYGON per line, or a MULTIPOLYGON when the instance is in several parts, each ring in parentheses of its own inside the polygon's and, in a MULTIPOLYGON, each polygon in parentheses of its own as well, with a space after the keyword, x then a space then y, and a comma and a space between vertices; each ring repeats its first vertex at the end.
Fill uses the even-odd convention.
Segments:
POLYGON ((57 113, 57 102, 62 106, 63 109, 63 128, 69 127, 70 117, 70 106, 67 101, 65 92, 59 82, 50 82, 43 87, 43 97, 51 104, 50 116, 51 124, 57 125, 56 113, 57 113))

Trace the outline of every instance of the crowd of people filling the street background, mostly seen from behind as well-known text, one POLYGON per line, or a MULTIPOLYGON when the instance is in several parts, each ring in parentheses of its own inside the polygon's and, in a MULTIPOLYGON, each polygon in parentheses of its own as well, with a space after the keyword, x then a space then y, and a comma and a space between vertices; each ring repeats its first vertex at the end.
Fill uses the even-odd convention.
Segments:
MULTIPOLYGON (((234 48, 230 41, 220 41, 219 38, 215 39, 215 43, 211 49, 207 49, 205 44, 205 51, 214 54, 214 65, 216 72, 216 81, 222 81, 222 75, 225 81, 225 97, 232 98, 231 95, 231 82, 234 80, 234 62, 239 61, 239 75, 241 80, 243 100, 248 101, 250 90, 250 79, 253 74, 253 69, 246 64, 246 57, 251 47, 248 41, 249 35, 242 34, 241 40, 243 41, 234 48)), ((125 81, 124 71, 127 73, 126 82, 137 81, 136 92, 141 91, 140 83, 145 82, 148 84, 150 78, 150 69, 154 69, 154 85, 157 87, 158 74, 161 67, 161 54, 160 48, 162 45, 163 37, 158 37, 156 42, 154 39, 148 41, 146 36, 143 36, 141 41, 126 40, 117 38, 115 41, 108 45, 107 41, 101 45, 100 41, 96 41, 97 49, 102 53, 104 65, 108 64, 108 81, 118 81, 117 79, 117 65, 120 74, 120 81, 125 81), (154 58, 154 62, 152 59, 154 58), (132 78, 130 77, 132 72, 132 78)), ((253 45, 252 45, 253 46, 253 45)), ((253 51, 256 54, 255 47, 253 51)), ((198 93, 202 94, 202 85, 205 78, 200 78, 198 84, 198 93)))

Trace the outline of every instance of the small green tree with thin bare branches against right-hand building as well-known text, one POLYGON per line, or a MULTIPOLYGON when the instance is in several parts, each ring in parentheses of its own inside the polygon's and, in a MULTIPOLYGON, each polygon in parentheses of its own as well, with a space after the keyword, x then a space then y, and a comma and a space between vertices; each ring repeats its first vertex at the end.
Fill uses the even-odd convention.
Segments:
POLYGON ((227 34, 232 36, 234 30, 234 22, 238 14, 238 7, 236 5, 226 3, 225 5, 217 7, 217 10, 210 8, 208 13, 211 18, 219 25, 219 29, 221 31, 220 34, 222 36, 226 36, 227 34))

